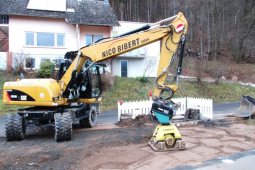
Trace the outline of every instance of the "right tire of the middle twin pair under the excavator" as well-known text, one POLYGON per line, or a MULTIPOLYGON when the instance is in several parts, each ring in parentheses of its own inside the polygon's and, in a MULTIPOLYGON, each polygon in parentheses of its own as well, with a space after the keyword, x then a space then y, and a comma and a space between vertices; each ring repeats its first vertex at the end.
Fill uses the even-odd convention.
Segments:
POLYGON ((69 112, 64 112, 62 115, 62 123, 64 125, 64 140, 72 139, 72 117, 69 112))

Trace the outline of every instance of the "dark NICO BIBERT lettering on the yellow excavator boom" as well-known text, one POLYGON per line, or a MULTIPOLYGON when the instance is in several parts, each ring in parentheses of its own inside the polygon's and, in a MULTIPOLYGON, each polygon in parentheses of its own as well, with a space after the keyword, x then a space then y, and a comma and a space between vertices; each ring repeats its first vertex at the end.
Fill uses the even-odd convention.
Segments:
POLYGON ((122 51, 126 51, 128 49, 131 49, 137 46, 139 46, 139 38, 129 41, 127 43, 118 45, 117 47, 113 47, 108 50, 105 50, 104 52, 102 52, 102 57, 108 57, 108 56, 116 54, 117 52, 121 53, 122 51))

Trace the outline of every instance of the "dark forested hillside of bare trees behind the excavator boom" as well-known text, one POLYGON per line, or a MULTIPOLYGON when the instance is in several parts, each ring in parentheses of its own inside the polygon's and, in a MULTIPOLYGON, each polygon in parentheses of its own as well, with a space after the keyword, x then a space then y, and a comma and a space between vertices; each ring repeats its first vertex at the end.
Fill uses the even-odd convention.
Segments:
POLYGON ((120 21, 155 22, 182 11, 189 55, 255 63, 255 0, 110 0, 120 21))

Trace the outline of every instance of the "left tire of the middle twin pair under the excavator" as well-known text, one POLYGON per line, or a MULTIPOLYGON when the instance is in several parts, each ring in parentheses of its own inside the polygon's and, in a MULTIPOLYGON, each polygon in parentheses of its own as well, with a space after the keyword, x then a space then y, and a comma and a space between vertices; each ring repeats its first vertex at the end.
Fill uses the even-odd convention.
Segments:
POLYGON ((55 141, 62 142, 65 139, 65 128, 63 125, 61 113, 55 113, 54 120, 55 120, 55 141))

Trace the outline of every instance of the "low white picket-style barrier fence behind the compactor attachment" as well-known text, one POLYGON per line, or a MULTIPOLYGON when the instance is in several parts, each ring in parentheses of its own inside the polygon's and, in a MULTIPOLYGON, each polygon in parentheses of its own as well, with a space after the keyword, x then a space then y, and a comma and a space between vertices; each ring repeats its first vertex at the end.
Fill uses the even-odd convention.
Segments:
MULTIPOLYGON (((173 102, 179 103, 180 108, 176 111, 173 119, 184 118, 187 109, 199 109, 202 120, 213 119, 213 100, 205 98, 173 98, 173 102)), ((138 115, 148 115, 151 110, 152 100, 140 100, 130 102, 118 102, 118 121, 125 116, 135 119, 138 115)))

